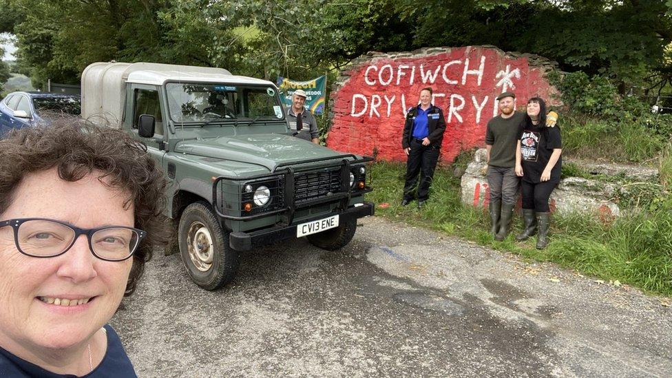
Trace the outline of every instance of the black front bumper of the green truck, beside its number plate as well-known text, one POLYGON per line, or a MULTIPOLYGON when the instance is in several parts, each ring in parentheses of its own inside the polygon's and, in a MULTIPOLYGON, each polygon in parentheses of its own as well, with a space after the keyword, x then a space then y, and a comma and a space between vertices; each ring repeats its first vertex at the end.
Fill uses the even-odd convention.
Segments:
MULTIPOLYGON (((351 218, 372 216, 374 212, 374 204, 372 202, 365 201, 359 206, 348 207, 348 209, 338 214, 341 220, 347 220, 351 218)), ((333 215, 335 214, 317 216, 307 220, 302 220, 301 223, 311 222, 313 220, 319 220, 333 215)), ((296 226, 297 224, 292 224, 290 226, 274 226, 252 232, 232 232, 229 234, 229 245, 236 251, 250 251, 255 246, 264 246, 271 244, 272 242, 295 238, 296 226)))

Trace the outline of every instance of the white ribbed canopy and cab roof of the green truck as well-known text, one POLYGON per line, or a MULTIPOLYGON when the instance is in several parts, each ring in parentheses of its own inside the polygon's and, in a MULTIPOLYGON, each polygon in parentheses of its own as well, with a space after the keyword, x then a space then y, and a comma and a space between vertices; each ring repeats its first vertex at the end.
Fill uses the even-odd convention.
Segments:
POLYGON ((224 68, 161 63, 92 63, 82 73, 82 118, 98 125, 121 127, 126 83, 163 85, 167 81, 273 85, 270 81, 234 76, 224 68))

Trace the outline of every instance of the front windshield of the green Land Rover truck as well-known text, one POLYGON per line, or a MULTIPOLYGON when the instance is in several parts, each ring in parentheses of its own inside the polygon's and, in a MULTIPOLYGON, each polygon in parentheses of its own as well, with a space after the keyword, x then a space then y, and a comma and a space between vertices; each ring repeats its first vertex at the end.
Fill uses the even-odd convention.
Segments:
POLYGON ((175 122, 218 119, 282 119, 275 88, 251 85, 168 83, 168 109, 175 122))

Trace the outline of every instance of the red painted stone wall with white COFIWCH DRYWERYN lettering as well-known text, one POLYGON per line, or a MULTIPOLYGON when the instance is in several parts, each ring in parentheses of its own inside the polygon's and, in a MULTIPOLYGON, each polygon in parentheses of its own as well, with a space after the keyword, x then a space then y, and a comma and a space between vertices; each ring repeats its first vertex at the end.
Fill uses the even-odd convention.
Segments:
POLYGON ((498 114, 496 96, 512 91, 521 107, 540 96, 559 104, 545 75, 552 62, 492 47, 430 48, 414 53, 372 53, 357 60, 332 92, 332 127, 327 145, 339 151, 405 161, 401 133, 408 108, 423 87, 434 90, 434 105, 447 123, 442 160, 482 147, 487 121, 498 114))

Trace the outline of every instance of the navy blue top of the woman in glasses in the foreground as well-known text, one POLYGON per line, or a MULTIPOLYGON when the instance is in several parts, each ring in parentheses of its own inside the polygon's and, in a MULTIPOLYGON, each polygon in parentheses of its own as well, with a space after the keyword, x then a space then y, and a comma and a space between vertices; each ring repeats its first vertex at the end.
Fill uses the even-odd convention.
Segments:
MULTIPOLYGON (((111 326, 105 324, 107 330, 107 351, 101 364, 96 366, 92 372, 83 377, 87 378, 104 378, 104 377, 129 377, 137 378, 131 360, 128 359, 124 347, 121 345, 119 335, 114 332, 111 326)), ((0 348, 0 377, 3 378, 24 378, 24 377, 40 377, 40 378, 76 378, 76 375, 71 374, 55 374, 48 370, 31 364, 24 359, 12 355, 7 350, 0 348)))

